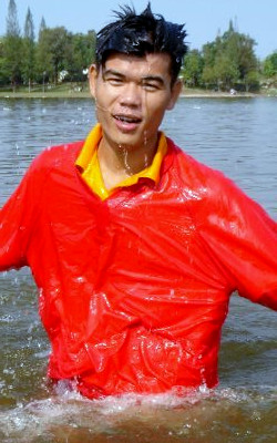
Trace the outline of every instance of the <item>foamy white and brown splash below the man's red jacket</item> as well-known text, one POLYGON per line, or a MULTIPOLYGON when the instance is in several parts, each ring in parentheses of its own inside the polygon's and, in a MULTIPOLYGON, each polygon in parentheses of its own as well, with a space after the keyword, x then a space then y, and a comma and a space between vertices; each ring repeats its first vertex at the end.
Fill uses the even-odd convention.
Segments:
POLYGON ((185 436, 189 442, 222 443, 223 434, 225 442, 239 441, 246 435, 255 439, 258 422, 259 432, 266 437, 270 434, 266 426, 276 398, 273 388, 266 389, 266 396, 243 388, 205 388, 183 389, 182 395, 172 390, 163 394, 125 394, 91 401, 61 382, 52 395, 1 412, 0 436, 3 443, 117 443, 134 437, 146 443, 172 442, 185 436))

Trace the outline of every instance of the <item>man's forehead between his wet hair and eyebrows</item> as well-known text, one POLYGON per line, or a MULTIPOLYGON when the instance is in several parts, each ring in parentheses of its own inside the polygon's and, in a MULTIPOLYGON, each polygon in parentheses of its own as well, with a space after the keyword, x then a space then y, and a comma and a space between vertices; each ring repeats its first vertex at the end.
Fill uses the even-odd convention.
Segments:
POLYGON ((112 53, 107 56, 103 71, 115 70, 124 74, 136 73, 137 75, 163 75, 171 76, 171 58, 168 54, 148 53, 144 56, 112 53))

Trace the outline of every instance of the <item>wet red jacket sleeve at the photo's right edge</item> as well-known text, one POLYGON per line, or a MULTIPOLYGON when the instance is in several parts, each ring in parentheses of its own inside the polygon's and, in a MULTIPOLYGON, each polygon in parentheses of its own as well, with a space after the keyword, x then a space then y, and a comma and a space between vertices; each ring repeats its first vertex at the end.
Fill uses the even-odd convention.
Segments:
POLYGON ((203 238, 234 290, 277 310, 276 222, 232 181, 222 177, 212 187, 202 209, 203 238))

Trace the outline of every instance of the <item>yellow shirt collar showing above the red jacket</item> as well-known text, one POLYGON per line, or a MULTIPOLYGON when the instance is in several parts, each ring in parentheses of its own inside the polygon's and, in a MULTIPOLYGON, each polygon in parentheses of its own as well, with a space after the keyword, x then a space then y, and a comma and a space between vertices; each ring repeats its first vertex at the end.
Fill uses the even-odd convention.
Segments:
POLYGON ((119 187, 132 186, 136 184, 142 177, 146 177, 155 183, 158 183, 161 164, 167 151, 167 143, 163 133, 160 134, 157 151, 152 164, 145 167, 145 169, 141 171, 140 173, 125 178, 111 189, 106 189, 104 185, 98 158, 98 146, 101 138, 102 128, 100 124, 96 124, 96 126, 94 126, 94 128, 86 137, 82 151, 78 156, 75 165, 81 169, 81 175, 84 182, 102 200, 107 198, 119 187))

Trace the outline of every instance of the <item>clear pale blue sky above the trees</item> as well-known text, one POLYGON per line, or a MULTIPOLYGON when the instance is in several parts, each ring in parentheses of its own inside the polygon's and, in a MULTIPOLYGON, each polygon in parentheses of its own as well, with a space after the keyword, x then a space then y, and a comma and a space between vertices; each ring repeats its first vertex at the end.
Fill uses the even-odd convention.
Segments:
MULTIPOLYGON (((99 31, 111 20, 120 4, 133 4, 137 12, 145 9, 147 0, 16 0, 18 19, 23 30, 28 7, 38 33, 42 17, 49 28, 63 25, 71 32, 99 31)), ((0 0, 0 35, 6 33, 9 0, 0 0)), ((191 49, 215 40, 228 29, 253 38, 256 55, 265 59, 277 50, 277 0, 152 0, 152 10, 166 20, 185 23, 191 49)))

